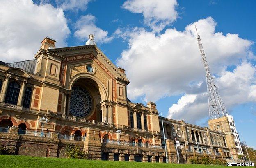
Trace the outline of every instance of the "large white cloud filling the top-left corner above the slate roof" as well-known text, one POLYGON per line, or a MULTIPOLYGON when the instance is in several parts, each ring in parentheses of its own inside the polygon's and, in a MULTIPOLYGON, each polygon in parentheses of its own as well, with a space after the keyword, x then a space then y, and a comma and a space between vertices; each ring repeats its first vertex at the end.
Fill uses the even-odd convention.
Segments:
POLYGON ((66 46, 70 31, 62 9, 32 0, 2 0, 0 5, 0 53, 6 62, 32 59, 45 36, 66 46))

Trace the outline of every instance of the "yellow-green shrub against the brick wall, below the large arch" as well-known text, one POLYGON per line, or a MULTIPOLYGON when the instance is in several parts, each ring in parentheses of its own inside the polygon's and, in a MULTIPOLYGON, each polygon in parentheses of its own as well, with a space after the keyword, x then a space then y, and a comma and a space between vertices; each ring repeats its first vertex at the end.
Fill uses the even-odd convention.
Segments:
POLYGON ((78 146, 68 145, 66 146, 65 153, 68 158, 75 159, 88 159, 89 154, 81 150, 78 146))

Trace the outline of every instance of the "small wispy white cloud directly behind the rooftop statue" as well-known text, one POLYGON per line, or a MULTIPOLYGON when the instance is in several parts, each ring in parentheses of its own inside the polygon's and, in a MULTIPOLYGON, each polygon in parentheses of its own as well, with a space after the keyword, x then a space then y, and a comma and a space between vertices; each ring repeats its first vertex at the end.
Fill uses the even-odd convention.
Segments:
POLYGON ((81 40, 87 40, 89 34, 95 34, 94 39, 98 43, 106 43, 113 39, 113 37, 108 37, 107 31, 104 31, 95 25, 96 17, 92 15, 80 16, 80 19, 75 23, 75 28, 77 29, 74 36, 80 38, 81 40))

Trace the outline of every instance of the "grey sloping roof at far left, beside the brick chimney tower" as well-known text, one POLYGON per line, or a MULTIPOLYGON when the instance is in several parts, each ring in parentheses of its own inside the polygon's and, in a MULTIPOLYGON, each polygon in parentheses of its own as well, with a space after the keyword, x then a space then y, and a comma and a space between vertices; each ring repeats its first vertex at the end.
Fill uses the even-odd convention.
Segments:
POLYGON ((19 61, 15 63, 7 63, 7 65, 13 68, 23 69, 26 72, 30 72, 34 74, 36 63, 37 63, 37 60, 34 59, 34 60, 19 61))

